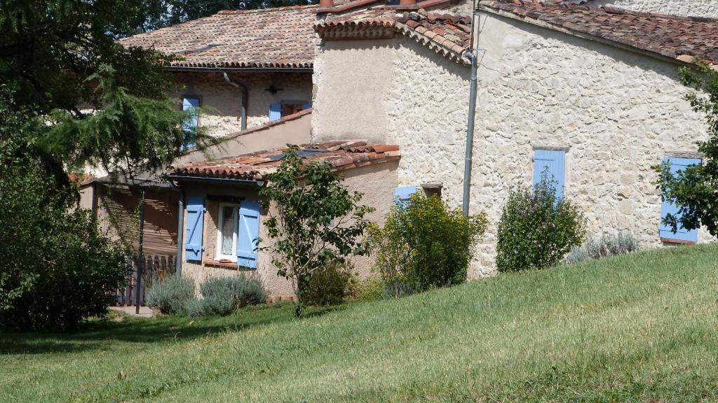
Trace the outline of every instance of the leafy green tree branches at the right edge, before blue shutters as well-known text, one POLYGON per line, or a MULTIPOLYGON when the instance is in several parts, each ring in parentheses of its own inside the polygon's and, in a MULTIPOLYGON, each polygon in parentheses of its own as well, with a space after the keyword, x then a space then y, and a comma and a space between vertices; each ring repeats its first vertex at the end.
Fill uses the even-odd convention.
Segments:
POLYGON ((667 214, 663 224, 673 227, 679 224, 685 229, 705 226, 710 234, 718 234, 718 72, 703 62, 696 67, 679 70, 681 82, 695 91, 686 95, 691 107, 706 116, 707 141, 698 142, 703 155, 702 165, 689 166, 671 174, 667 163, 654 166, 658 174, 656 185, 664 199, 673 200, 679 206, 678 216, 667 214))

